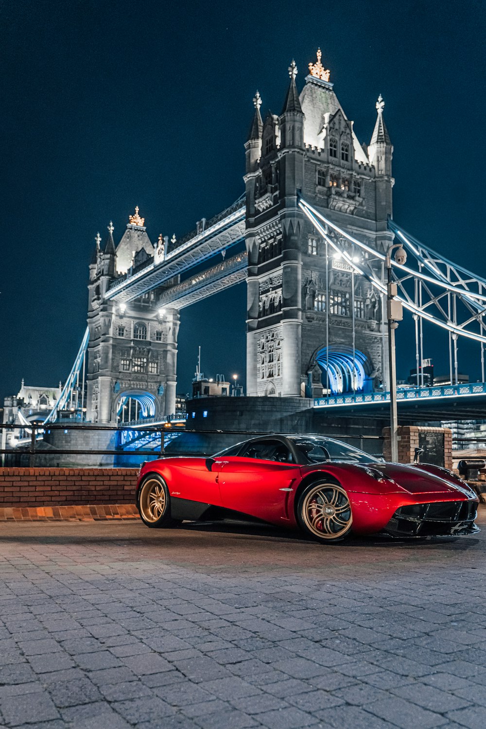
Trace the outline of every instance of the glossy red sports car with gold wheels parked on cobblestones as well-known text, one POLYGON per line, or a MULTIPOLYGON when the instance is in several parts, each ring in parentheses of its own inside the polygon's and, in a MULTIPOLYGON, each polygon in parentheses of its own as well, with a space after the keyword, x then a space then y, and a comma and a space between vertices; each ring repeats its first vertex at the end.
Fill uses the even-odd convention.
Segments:
POLYGON ((354 534, 475 534, 478 498, 451 471, 385 463, 320 436, 251 438, 211 458, 145 463, 136 500, 146 526, 221 518, 299 528, 321 542, 354 534))

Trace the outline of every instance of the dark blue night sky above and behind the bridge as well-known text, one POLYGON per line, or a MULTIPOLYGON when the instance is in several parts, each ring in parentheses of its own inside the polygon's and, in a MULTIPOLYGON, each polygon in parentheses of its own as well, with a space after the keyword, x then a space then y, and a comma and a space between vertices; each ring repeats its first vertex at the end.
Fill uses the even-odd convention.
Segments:
MULTIPOLYGON (((156 241, 238 198, 255 90, 280 113, 290 61, 300 90, 318 46, 360 141, 385 99, 396 221, 486 277, 482 0, 1 0, 0 27, 2 399, 21 378, 66 379, 110 219, 117 242, 138 205, 156 241)), ((199 344, 206 375, 244 375, 245 318, 245 284, 181 311, 178 391, 199 344)), ((399 377, 415 366, 408 326, 399 377)), ((446 343, 426 329, 436 372, 446 343)), ((472 351, 459 369, 476 379, 472 351)))

